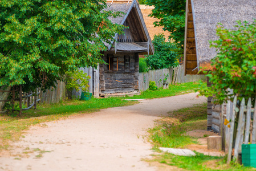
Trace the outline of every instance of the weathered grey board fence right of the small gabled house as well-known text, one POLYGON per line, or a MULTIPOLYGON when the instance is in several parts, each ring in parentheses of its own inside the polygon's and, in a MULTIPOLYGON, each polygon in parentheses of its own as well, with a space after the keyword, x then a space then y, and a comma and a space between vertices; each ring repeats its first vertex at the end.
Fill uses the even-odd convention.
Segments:
POLYGON ((168 74, 167 82, 169 84, 197 82, 206 80, 205 75, 184 75, 184 66, 180 65, 174 68, 164 68, 161 70, 151 70, 139 74, 139 89, 145 91, 149 87, 149 81, 156 82, 157 87, 162 87, 165 76, 168 74))

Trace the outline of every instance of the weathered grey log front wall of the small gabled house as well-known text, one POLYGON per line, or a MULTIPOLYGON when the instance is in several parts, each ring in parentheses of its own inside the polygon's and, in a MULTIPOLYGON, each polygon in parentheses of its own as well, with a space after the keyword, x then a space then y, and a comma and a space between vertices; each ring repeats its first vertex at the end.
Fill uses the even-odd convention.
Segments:
POLYGON ((108 63, 108 55, 118 58, 118 71, 109 71, 108 64, 100 65, 100 91, 101 93, 133 92, 139 89, 139 55, 136 53, 113 54, 105 52, 104 60, 108 63), (124 68, 124 56, 129 56, 129 71, 124 68))

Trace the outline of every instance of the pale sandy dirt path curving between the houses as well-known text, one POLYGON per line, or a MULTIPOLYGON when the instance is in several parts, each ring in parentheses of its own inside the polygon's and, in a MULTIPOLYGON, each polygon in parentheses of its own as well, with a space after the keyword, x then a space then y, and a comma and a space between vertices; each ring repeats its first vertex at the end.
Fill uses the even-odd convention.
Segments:
POLYGON ((141 161, 153 153, 147 129, 169 111, 203 102, 190 93, 32 127, 10 150, 18 156, 1 154, 0 170, 157 170, 141 161))

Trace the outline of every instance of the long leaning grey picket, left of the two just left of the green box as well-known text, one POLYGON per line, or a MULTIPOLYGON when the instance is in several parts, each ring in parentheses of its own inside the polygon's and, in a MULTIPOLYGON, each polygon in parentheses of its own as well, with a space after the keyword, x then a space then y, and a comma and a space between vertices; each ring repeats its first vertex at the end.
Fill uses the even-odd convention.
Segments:
POLYGON ((230 115, 230 131, 229 131, 229 153, 227 154, 227 164, 230 164, 232 149, 233 149, 233 133, 234 133, 234 125, 235 125, 235 107, 237 105, 237 96, 234 97, 233 108, 230 115))

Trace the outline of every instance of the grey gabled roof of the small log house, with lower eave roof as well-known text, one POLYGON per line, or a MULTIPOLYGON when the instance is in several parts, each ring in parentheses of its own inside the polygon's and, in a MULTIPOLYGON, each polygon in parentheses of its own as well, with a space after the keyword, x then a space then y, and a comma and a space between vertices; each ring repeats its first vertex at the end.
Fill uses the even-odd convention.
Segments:
MULTIPOLYGON (((153 47, 153 43, 149 36, 147 27, 145 25, 143 14, 141 13, 139 4, 136 0, 133 1, 109 1, 107 0, 107 5, 109 6, 107 10, 112 11, 121 11, 124 14, 121 17, 113 18, 110 17, 109 19, 112 23, 117 23, 119 25, 124 25, 126 21, 128 23, 129 29, 132 31, 132 35, 135 38, 135 42, 129 43, 115 43, 117 48, 120 47, 129 47, 127 51, 134 51, 134 52, 147 52, 145 51, 145 47, 141 46, 141 44, 136 44, 136 42, 148 42, 149 49, 148 53, 154 54, 155 49, 153 47), (128 45, 129 44, 129 45, 128 45), (134 47, 134 48, 132 48, 134 47), (140 48, 138 48, 140 47, 140 48)), ((117 38, 117 34, 115 35, 115 39, 117 38)), ((108 46, 108 49, 111 50, 113 42, 108 46)), ((116 49, 117 50, 117 49, 116 49)))

